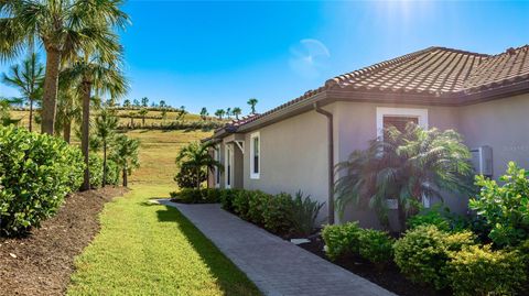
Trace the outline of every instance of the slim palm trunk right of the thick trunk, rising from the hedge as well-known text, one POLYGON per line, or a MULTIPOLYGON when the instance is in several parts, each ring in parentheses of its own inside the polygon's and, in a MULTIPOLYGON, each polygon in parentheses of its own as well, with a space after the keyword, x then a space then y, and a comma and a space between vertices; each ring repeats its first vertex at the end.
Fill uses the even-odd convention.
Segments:
POLYGON ((82 84, 83 91, 83 122, 82 122, 82 136, 80 136, 80 150, 83 151, 83 156, 85 156, 85 178, 83 182, 83 190, 90 189, 90 169, 88 168, 89 164, 89 135, 90 135, 90 94, 91 94, 91 83, 83 81, 82 84))

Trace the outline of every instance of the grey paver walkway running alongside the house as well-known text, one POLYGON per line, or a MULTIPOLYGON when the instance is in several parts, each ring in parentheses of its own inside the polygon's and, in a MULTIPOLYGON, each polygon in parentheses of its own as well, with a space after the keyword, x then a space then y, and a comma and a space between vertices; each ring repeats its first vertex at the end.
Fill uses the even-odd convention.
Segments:
POLYGON ((395 295, 374 283, 284 241, 219 205, 160 204, 177 208, 264 295, 395 295))

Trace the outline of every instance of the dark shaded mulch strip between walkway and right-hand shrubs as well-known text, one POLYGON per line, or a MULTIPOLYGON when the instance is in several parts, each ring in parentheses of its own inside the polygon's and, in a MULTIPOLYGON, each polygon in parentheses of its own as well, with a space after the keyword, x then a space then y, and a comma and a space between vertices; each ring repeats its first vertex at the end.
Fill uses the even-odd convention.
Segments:
MULTIPOLYGON (((323 251, 324 242, 320 235, 311 237, 310 243, 300 244, 300 248, 323 257, 328 261, 323 251)), ((450 290, 436 292, 431 287, 420 286, 411 283, 400 272, 399 268, 391 264, 384 270, 378 270, 375 265, 360 257, 343 257, 333 261, 354 274, 357 274, 370 282, 401 296, 447 296, 452 295, 450 290)))

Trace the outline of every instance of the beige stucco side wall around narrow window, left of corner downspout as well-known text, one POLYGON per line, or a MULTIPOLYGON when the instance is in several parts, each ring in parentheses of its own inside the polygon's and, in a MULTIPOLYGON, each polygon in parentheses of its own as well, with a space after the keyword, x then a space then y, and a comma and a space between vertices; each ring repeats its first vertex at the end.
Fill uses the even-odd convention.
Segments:
MULTIPOLYGON (((313 199, 327 200, 327 121, 310 111, 246 134, 245 175, 247 189, 270 194, 302 190, 313 199), (260 133, 261 169, 250 178, 250 136, 260 133)), ((322 210, 326 217, 326 208, 322 210)), ((323 217, 324 216, 324 217, 323 217)))

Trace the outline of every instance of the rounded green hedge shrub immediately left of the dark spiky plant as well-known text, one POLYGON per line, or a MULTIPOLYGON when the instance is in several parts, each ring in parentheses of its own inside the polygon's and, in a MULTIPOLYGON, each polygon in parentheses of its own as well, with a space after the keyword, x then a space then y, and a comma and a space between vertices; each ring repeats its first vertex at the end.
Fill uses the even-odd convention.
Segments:
POLYGON ((292 229, 292 196, 289 194, 279 194, 270 198, 262 212, 264 228, 277 234, 289 233, 292 229))

